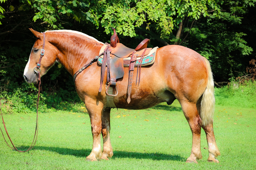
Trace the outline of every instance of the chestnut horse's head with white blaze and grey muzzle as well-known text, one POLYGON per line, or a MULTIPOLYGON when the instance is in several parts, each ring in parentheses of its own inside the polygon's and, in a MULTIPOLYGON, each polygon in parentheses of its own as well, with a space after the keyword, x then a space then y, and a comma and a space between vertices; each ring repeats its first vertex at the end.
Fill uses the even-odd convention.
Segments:
MULTIPOLYGON (((43 33, 39 33, 30 28, 30 31, 36 36, 36 42, 31 50, 28 63, 24 70, 24 78, 27 83, 36 83, 37 76, 36 71, 39 71, 36 68, 36 65, 40 59, 41 50, 43 48, 43 33)), ((48 37, 49 39, 49 37, 48 37)), ((47 36, 45 35, 45 47, 44 55, 41 60, 40 66, 40 75, 43 76, 47 70, 55 63, 57 56, 57 48, 54 47, 49 41, 47 41, 47 36)))

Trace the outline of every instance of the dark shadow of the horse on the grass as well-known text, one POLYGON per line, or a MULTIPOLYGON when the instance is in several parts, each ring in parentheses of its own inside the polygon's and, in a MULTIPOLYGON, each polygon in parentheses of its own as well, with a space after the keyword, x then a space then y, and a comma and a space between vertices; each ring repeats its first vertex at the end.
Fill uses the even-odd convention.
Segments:
MULTIPOLYGON (((19 150, 24 150, 28 146, 19 147, 19 150)), ((69 149, 69 148, 59 148, 59 147, 46 147, 46 146, 35 146, 33 150, 42 150, 56 152, 61 155, 73 155, 76 157, 88 156, 92 150, 90 149, 69 149)), ((32 151, 33 151, 32 150, 32 151)), ((30 151, 31 152, 31 151, 30 151)), ((114 156, 111 159, 118 158, 135 158, 135 159, 151 159, 151 160, 174 160, 186 162, 186 158, 180 157, 179 155, 161 154, 161 153, 138 153, 138 152, 124 152, 124 151, 114 151, 114 156)))

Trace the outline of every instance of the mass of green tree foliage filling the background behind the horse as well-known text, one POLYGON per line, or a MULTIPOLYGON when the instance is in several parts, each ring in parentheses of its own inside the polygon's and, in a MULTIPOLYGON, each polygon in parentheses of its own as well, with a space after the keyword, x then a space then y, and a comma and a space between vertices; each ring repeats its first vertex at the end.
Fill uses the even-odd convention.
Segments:
MULTIPOLYGON (((256 0, 0 0, 0 82, 22 85, 23 70, 35 37, 71 29, 109 42, 111 27, 120 41, 135 48, 144 38, 150 47, 177 44, 208 58, 217 81, 227 81, 246 69, 256 55, 256 0), (183 24, 183 27, 181 26, 183 24), (177 33, 180 35, 177 39, 177 33), (254 50, 254 51, 253 51, 254 50)), ((44 90, 74 91, 72 76, 56 65, 43 78, 44 90)))

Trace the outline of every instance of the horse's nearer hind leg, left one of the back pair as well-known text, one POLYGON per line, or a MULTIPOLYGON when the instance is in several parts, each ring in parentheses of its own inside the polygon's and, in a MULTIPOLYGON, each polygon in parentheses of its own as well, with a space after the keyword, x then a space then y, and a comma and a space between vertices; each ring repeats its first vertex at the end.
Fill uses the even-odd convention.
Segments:
POLYGON ((202 120, 197 112, 196 103, 186 100, 179 100, 182 107, 182 111, 188 121, 189 127, 192 132, 192 150, 186 162, 195 162, 197 159, 202 159, 201 153, 201 125, 202 120))

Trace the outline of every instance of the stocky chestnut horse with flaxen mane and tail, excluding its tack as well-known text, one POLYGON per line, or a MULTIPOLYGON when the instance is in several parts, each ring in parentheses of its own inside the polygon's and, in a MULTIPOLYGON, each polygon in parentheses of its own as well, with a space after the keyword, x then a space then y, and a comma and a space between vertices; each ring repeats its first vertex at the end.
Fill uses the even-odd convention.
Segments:
MULTIPOLYGON (((28 83, 36 83, 34 71, 40 58, 43 46, 43 33, 30 29, 37 37, 24 78, 28 83)), ((41 75, 57 61, 71 75, 99 55, 103 43, 84 33, 58 30, 45 32, 45 54, 41 61, 41 75)), ((134 71, 137 71, 135 68, 134 71)), ((158 48, 153 65, 141 68, 139 86, 133 81, 131 102, 127 103, 128 68, 124 68, 124 77, 118 82, 118 95, 114 97, 117 108, 146 109, 159 103, 168 105, 177 99, 190 126, 193 139, 191 154, 187 162, 197 163, 202 159, 200 149, 201 127, 206 133, 209 157, 208 161, 219 162, 216 157, 220 151, 213 133, 214 82, 209 61, 195 51, 178 46, 168 45, 158 48)), ((106 73, 105 73, 106 75, 106 73)), ((106 76, 103 83, 106 83, 106 76)), ((110 109, 106 107, 105 88, 99 92, 100 65, 93 63, 82 71, 75 80, 76 92, 85 103, 92 126, 92 152, 87 160, 107 159, 113 156, 110 143, 110 109), (103 151, 100 144, 100 133, 103 137, 103 151)))

